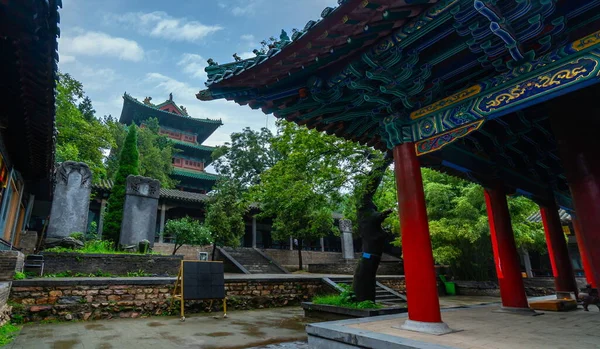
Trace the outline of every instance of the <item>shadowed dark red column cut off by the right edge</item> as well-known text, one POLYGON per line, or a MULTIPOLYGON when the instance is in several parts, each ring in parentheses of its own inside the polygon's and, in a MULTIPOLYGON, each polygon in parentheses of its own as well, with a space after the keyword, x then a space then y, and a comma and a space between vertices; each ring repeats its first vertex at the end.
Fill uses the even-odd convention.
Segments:
POLYGON ((551 121, 584 242, 580 248, 587 251, 591 279, 600 286, 600 138, 587 124, 600 113, 600 106, 590 102, 593 97, 585 105, 596 110, 569 115, 558 105, 551 121))

